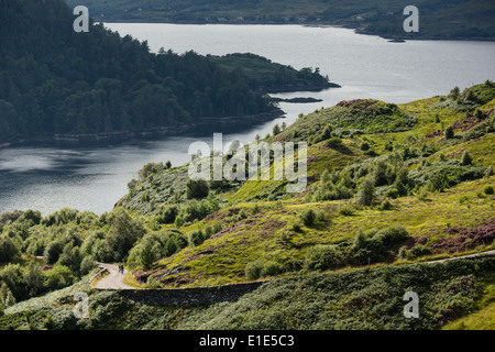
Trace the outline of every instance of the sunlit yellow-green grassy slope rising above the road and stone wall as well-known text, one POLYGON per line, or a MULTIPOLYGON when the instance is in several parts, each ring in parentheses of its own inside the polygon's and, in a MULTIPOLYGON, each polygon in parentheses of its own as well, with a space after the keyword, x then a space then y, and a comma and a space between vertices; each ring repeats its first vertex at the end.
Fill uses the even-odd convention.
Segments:
MULTIPOLYGON (((165 286, 218 285, 246 280, 245 267, 260 261, 275 262, 289 275, 305 267, 308 250, 315 245, 338 245, 345 252, 360 230, 393 226, 405 227, 410 238, 391 246, 393 254, 376 262, 402 261, 400 246, 409 251, 426 246, 428 250, 418 256, 424 258, 490 249, 495 197, 485 189, 495 182, 493 103, 493 87, 486 82, 466 89, 453 103, 446 97, 399 106, 344 101, 302 117, 268 141, 310 140, 309 185, 305 193, 286 194, 285 180, 246 180, 229 190, 212 189, 210 198, 218 199, 221 209, 196 220, 189 217, 178 227, 189 235, 201 231, 206 241, 160 260, 152 271, 139 275, 144 279, 148 275, 162 278, 165 286), (476 91, 487 96, 474 102, 476 91), (472 100, 466 100, 468 96, 472 100), (476 109, 482 113, 479 118, 474 118, 476 109), (328 141, 320 141, 318 133, 329 124, 333 125, 331 139, 340 135, 341 145, 329 146, 328 141), (444 138, 449 125, 454 131, 451 139, 444 138), (364 143, 369 145, 365 151, 364 143), (461 163, 464 152, 471 155, 470 165, 461 163), (376 165, 381 163, 388 165, 384 173, 392 173, 393 178, 398 177, 393 169, 407 170, 409 184, 405 194, 397 195, 399 185, 389 180, 375 187, 371 205, 359 205, 356 197, 366 169, 371 169, 367 176, 376 177, 376 165), (324 173, 338 182, 323 185, 324 173), (345 183, 348 187, 342 186, 345 183), (440 188, 435 189, 433 185, 440 188), (308 209, 319 217, 315 223, 301 221, 308 209)), ((139 184, 131 190, 132 197, 124 197, 123 206, 160 216, 169 204, 176 204, 179 216, 187 218, 188 204, 207 200, 187 200, 185 180, 179 186, 179 178, 172 177, 175 173, 157 173, 139 184), (182 198, 162 198, 168 190, 160 189, 168 184, 161 184, 161 179, 174 179, 174 191, 180 193, 182 198), (156 185, 151 186, 153 182, 156 185), (143 195, 151 198, 140 201, 143 195), (154 211, 148 208, 151 202, 154 211)), ((186 167, 182 173, 186 173, 186 167)), ((344 260, 336 267, 355 265, 359 266, 344 260)))

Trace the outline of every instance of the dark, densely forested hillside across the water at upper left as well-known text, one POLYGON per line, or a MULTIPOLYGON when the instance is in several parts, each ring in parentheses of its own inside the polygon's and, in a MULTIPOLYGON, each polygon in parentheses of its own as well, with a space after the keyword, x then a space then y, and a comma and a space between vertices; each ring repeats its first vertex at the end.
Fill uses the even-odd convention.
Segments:
POLYGON ((242 72, 211 58, 155 55, 146 42, 102 25, 76 33, 76 16, 62 0, 1 0, 0 7, 0 143, 143 131, 274 109, 242 72))

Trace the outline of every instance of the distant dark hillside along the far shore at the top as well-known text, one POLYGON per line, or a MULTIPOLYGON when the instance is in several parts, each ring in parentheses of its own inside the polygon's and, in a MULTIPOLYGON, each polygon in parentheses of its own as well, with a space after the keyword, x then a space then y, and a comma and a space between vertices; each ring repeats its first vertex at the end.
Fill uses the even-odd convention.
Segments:
POLYGON ((491 0, 418 0, 419 33, 405 33, 404 0, 66 0, 89 7, 110 22, 339 24, 364 33, 403 38, 495 37, 491 0))

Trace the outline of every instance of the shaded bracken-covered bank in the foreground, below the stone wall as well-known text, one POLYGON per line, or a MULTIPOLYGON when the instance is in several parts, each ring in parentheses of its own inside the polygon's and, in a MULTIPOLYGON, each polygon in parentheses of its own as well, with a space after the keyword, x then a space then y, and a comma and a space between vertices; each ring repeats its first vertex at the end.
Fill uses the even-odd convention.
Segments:
POLYGON ((494 265, 484 258, 297 275, 237 301, 195 307, 145 306, 98 293, 86 280, 9 308, 0 329, 493 330, 494 265), (87 320, 72 315, 73 295, 80 290, 89 295, 87 320), (407 290, 420 297, 418 319, 403 315, 407 290))

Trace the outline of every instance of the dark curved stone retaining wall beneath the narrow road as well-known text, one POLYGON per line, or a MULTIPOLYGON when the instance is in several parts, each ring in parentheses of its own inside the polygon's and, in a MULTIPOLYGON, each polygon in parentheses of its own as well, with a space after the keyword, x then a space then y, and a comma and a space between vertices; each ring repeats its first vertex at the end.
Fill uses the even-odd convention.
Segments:
POLYGON ((234 300, 258 288, 265 282, 210 287, 122 289, 122 297, 150 306, 195 306, 234 300))

